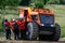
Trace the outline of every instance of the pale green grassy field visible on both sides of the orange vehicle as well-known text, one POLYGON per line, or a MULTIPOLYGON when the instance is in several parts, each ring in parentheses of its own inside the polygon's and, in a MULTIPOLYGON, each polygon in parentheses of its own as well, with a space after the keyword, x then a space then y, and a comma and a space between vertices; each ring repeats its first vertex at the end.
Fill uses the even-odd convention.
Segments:
MULTIPOLYGON (((46 5, 46 9, 51 9, 56 17, 56 23, 60 24, 61 26, 61 37, 64 38, 65 37, 65 5, 46 5)), ((18 11, 6 11, 10 14, 5 14, 4 17, 6 18, 17 18, 18 17, 18 11)), ((3 16, 3 15, 2 15, 3 16)), ((0 32, 3 31, 2 30, 2 26, 1 26, 1 20, 0 19, 0 32)))

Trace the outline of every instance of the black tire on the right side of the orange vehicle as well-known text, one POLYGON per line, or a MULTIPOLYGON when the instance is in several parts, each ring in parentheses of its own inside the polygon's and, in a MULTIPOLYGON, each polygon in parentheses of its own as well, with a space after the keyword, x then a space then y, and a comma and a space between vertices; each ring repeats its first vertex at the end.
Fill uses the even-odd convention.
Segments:
POLYGON ((61 37, 61 27, 58 24, 55 24, 55 30, 54 33, 51 37, 52 41, 58 41, 61 37))

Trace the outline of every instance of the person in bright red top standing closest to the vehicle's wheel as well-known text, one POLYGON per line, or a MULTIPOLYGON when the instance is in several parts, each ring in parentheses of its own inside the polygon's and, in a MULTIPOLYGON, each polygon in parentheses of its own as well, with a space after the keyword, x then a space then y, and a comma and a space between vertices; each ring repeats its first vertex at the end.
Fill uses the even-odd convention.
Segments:
POLYGON ((21 32, 21 40, 26 40, 26 28, 25 28, 25 20, 24 17, 20 17, 16 22, 21 32))

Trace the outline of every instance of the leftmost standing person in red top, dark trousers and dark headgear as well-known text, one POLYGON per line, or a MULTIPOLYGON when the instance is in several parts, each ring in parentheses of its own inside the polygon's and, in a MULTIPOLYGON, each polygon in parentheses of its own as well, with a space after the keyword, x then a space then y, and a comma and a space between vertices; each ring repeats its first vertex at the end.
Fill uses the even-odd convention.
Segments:
POLYGON ((5 30, 5 39, 11 40, 11 29, 10 29, 10 23, 6 18, 3 20, 3 28, 5 30))

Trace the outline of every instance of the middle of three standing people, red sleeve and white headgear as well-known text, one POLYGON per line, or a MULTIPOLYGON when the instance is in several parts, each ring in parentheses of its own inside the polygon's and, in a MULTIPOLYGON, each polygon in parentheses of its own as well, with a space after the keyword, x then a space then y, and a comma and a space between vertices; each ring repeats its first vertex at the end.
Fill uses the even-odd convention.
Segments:
POLYGON ((11 29, 14 33, 14 40, 20 40, 20 29, 18 29, 18 26, 17 26, 15 19, 12 19, 10 22, 10 26, 11 26, 11 29))

